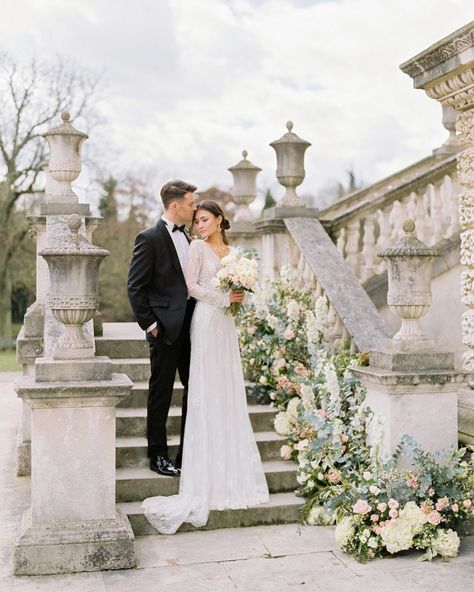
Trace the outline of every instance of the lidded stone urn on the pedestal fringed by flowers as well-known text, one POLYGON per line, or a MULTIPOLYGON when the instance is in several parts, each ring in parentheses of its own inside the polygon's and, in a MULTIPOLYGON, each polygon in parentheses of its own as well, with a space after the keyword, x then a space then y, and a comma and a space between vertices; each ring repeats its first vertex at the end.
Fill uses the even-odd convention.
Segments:
POLYGON ((402 349, 429 349, 434 344, 419 319, 431 306, 431 268, 438 252, 418 240, 412 219, 405 220, 403 230, 405 235, 393 247, 378 254, 387 260, 387 304, 402 321, 392 343, 402 349))

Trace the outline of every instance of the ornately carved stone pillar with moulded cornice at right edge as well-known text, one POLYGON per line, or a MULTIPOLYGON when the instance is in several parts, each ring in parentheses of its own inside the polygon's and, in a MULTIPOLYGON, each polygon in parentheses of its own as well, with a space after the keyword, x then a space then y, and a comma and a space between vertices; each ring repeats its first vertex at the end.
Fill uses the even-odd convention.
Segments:
MULTIPOLYGON (((459 222, 461 226, 461 297, 463 370, 474 371, 474 21, 438 41, 400 66, 413 86, 457 113, 459 222)), ((472 385, 471 385, 472 386, 472 385)), ((463 439, 474 441, 474 393, 460 393, 459 424, 463 439)))

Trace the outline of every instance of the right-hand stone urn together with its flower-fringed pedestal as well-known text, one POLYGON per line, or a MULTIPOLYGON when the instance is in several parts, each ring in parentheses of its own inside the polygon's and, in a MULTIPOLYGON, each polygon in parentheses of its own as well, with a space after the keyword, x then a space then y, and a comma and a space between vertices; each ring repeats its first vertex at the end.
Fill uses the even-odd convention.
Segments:
POLYGON ((368 367, 353 370, 367 389, 374 412, 369 441, 382 457, 392 455, 404 435, 425 451, 455 448, 457 396, 466 384, 466 375, 454 369, 454 354, 435 349, 418 325, 431 305, 436 252, 416 238, 413 220, 403 228, 405 236, 380 253, 388 260, 387 301, 402 327, 387 350, 369 353, 368 367))

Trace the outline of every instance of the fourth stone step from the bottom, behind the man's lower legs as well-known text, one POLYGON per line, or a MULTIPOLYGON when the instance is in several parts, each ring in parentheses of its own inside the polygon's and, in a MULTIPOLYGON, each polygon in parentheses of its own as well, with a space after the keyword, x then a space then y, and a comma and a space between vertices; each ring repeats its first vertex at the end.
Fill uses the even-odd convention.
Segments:
MULTIPOLYGON (((276 409, 266 405, 249 405, 248 412, 254 432, 268 432, 273 429, 276 409)), ((146 436, 146 409, 144 407, 117 409, 118 437, 146 436)), ((168 414, 167 432, 169 435, 179 434, 181 426, 181 408, 171 407, 168 414)))

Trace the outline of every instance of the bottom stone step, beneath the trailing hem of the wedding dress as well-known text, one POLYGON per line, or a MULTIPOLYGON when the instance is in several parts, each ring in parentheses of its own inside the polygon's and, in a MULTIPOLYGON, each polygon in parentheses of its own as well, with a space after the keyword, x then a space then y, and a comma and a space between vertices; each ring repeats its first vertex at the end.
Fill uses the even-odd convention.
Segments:
MULTIPOLYGON (((135 536, 157 534, 143 514, 140 502, 120 503, 119 507, 128 515, 135 536)), ((245 510, 211 510, 207 525, 199 530, 217 528, 238 528, 260 524, 287 524, 298 521, 298 509, 303 499, 294 493, 273 493, 266 504, 245 510)), ((178 532, 197 530, 190 524, 183 524, 178 532)))

